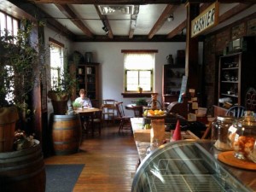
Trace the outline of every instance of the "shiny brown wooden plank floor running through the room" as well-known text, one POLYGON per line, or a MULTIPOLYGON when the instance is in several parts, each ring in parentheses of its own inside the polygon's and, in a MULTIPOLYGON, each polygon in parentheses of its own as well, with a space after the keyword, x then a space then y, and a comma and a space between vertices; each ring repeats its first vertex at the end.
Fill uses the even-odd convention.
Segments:
POLYGON ((84 137, 79 153, 44 161, 46 165, 85 164, 73 192, 130 192, 137 159, 131 131, 118 134, 118 125, 108 125, 102 128, 102 136, 84 137))

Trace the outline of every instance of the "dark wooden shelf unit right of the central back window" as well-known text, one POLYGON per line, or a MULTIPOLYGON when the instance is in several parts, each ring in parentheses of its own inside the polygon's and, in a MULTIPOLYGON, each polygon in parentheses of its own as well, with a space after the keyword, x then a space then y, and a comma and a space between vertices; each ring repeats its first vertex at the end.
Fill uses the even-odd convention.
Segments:
POLYGON ((185 68, 181 65, 163 66, 162 102, 173 102, 173 99, 178 98, 184 74, 185 68))

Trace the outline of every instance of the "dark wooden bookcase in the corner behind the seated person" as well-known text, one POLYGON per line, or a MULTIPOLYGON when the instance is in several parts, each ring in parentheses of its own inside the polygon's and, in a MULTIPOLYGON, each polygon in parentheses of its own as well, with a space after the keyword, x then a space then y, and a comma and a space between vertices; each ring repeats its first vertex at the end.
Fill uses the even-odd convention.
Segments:
POLYGON ((99 63, 86 63, 76 68, 76 78, 78 85, 76 87, 76 96, 79 96, 79 90, 87 90, 87 96, 90 98, 93 107, 99 107, 99 63))

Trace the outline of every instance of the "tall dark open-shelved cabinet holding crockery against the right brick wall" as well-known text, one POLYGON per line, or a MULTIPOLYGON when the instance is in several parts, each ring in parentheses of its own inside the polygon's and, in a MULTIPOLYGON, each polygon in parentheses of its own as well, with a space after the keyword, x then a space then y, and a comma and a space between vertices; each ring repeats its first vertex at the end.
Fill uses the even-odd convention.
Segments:
POLYGON ((230 100, 235 105, 245 105, 248 88, 255 87, 256 55, 239 52, 219 58, 218 66, 218 106, 223 107, 219 99, 230 100), (227 99, 228 98, 228 99, 227 99))

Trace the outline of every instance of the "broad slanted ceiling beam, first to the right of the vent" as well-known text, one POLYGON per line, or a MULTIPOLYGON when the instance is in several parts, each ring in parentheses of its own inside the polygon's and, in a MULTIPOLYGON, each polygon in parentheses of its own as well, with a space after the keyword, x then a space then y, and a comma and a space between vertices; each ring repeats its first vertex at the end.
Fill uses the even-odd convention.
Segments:
POLYGON ((154 34, 160 30, 160 28, 164 25, 166 20, 173 14, 174 10, 177 9, 177 5, 168 4, 166 9, 160 15, 159 19, 155 22, 151 31, 148 33, 148 38, 153 38, 154 34))

